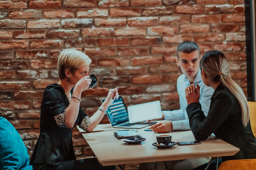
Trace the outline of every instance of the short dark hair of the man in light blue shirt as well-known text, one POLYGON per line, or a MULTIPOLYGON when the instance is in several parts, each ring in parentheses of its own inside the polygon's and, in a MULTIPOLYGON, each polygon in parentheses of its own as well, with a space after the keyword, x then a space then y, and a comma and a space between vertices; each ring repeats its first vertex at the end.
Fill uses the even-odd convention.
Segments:
POLYGON ((177 47, 177 57, 178 57, 179 52, 184 52, 184 53, 189 54, 189 53, 194 52, 196 50, 198 50, 199 56, 200 56, 200 49, 199 49, 199 46, 196 44, 196 42, 193 42, 193 41, 181 42, 181 44, 178 45, 178 47, 177 47))

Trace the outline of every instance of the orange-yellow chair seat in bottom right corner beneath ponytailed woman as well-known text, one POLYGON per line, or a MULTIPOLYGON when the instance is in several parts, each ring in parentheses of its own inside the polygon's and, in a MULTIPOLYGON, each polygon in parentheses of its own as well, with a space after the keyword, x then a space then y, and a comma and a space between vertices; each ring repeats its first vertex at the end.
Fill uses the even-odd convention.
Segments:
POLYGON ((256 159, 235 159, 223 162, 218 170, 249 170, 255 167, 256 159))

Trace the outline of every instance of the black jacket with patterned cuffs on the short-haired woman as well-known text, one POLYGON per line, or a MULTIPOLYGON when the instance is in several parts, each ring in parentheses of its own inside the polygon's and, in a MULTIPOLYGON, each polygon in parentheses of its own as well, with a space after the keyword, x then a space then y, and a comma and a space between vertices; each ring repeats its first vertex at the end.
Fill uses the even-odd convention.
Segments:
MULTIPOLYGON (((62 86, 51 84, 46 87, 41 103, 40 136, 30 164, 58 165, 76 159, 72 142, 73 128, 60 128, 54 119, 54 116, 63 113, 69 104, 62 86)), ((80 108, 75 125, 80 125, 85 116, 80 108)))

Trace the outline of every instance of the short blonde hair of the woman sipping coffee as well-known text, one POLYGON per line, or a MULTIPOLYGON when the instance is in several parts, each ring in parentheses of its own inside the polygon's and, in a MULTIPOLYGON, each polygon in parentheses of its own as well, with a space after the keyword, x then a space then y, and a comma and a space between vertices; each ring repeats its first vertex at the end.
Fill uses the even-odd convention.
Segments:
POLYGON ((64 79, 66 77, 66 69, 68 69, 72 74, 75 74, 78 68, 84 65, 90 65, 91 63, 92 60, 85 55, 85 53, 75 49, 65 49, 60 52, 60 55, 58 56, 58 75, 60 79, 64 79))

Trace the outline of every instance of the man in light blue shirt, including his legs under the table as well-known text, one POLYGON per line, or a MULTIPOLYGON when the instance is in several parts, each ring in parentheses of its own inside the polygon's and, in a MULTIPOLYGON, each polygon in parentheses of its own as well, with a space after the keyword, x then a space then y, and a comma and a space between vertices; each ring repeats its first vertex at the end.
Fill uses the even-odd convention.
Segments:
MULTIPOLYGON (((188 114, 186 113, 185 89, 190 84, 198 84, 200 86, 200 98, 202 111, 205 115, 208 114, 210 108, 210 97, 213 95, 213 88, 203 84, 201 79, 201 70, 199 69, 200 63, 200 49, 195 42, 185 41, 177 47, 177 59, 176 63, 181 68, 183 73, 177 80, 177 91, 179 96, 179 103, 181 108, 174 111, 162 111, 162 119, 168 120, 162 123, 156 123, 151 126, 151 130, 154 132, 171 132, 173 130, 190 130, 188 114), (171 120, 171 121, 169 121, 171 120)), ((186 159, 178 161, 166 162, 167 166, 171 170, 190 170, 207 163, 208 158, 200 159, 186 159)), ((140 164, 140 170, 154 169, 155 162, 140 164)), ((164 162, 157 164, 157 169, 166 169, 164 162)))

